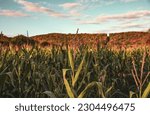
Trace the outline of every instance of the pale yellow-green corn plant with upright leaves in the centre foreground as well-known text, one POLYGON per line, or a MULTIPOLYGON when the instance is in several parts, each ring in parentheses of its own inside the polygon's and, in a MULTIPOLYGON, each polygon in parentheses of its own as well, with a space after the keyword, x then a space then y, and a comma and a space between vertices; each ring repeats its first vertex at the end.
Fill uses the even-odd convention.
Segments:
MULTIPOLYGON (((106 91, 104 91, 104 87, 103 87, 104 81, 103 82, 93 81, 93 82, 87 84, 87 86, 78 95, 76 95, 74 88, 75 88, 75 84, 77 83, 77 81, 79 79, 79 75, 81 73, 83 64, 85 63, 86 54, 84 54, 83 59, 79 65, 76 73, 75 73, 75 69, 74 69, 74 61, 73 61, 74 59, 73 59, 71 50, 68 51, 68 57, 69 57, 69 62, 70 62, 71 70, 72 70, 72 76, 71 76, 72 83, 69 83, 68 80, 66 79, 66 72, 69 71, 69 69, 63 69, 63 80, 64 80, 64 84, 65 84, 68 96, 70 98, 75 98, 75 97, 82 98, 85 96, 86 93, 89 92, 90 89, 92 89, 93 87, 96 86, 99 94, 102 97, 106 97, 107 93, 109 93, 112 90, 113 86, 108 88, 106 91)), ((83 80, 80 82, 80 85, 82 85, 83 80)))

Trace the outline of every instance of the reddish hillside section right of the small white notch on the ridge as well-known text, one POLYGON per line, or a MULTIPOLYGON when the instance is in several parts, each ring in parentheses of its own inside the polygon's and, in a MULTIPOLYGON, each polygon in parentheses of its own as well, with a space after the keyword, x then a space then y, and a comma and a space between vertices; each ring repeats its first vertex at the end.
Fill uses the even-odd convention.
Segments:
POLYGON ((109 44, 114 46, 142 46, 150 45, 149 32, 123 32, 110 34, 109 44))

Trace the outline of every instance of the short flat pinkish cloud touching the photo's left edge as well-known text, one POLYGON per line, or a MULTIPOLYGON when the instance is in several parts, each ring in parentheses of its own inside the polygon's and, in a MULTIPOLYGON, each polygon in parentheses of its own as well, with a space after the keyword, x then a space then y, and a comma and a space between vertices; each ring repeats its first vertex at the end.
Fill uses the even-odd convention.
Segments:
POLYGON ((0 15, 2 16, 10 16, 10 17, 26 17, 29 16, 21 11, 16 10, 0 10, 0 15))

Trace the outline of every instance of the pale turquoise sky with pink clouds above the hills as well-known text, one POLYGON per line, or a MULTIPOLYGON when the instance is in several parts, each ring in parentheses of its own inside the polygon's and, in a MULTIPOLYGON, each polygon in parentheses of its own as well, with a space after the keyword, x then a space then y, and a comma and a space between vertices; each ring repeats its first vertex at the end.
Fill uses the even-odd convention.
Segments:
POLYGON ((0 0, 7 36, 114 33, 150 28, 150 0, 0 0))

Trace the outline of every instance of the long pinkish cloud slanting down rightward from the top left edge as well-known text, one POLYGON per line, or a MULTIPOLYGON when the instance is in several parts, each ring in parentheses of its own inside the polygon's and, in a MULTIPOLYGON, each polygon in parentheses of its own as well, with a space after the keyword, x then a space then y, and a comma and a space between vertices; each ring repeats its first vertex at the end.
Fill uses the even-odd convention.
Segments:
POLYGON ((60 12, 56 12, 50 8, 46 8, 44 6, 39 5, 38 3, 33 3, 33 2, 29 2, 26 0, 15 0, 18 4, 21 4, 24 9, 26 11, 29 12, 41 12, 41 13, 46 13, 50 16, 53 17, 66 17, 67 15, 60 13, 60 12))

